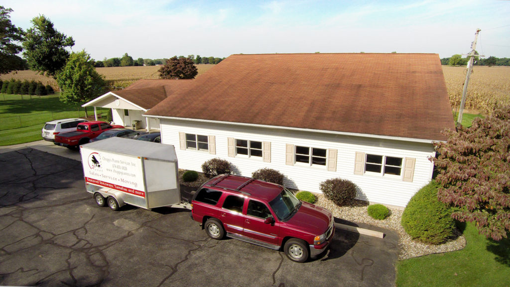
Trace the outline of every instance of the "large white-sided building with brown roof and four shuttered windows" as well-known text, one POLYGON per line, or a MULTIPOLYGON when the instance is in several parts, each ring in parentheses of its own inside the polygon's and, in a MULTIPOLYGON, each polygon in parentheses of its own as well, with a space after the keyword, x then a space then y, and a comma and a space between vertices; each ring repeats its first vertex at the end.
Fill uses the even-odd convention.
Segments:
POLYGON ((220 157, 311 192, 340 177, 359 199, 405 206, 454 128, 437 54, 233 55, 190 82, 143 114, 180 168, 220 157))

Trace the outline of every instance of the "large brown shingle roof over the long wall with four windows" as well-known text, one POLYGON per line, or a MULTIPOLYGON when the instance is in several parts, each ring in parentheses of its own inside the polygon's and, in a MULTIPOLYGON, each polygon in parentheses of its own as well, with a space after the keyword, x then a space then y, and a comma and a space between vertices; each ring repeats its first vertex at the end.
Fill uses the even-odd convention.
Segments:
POLYGON ((444 140, 437 54, 232 55, 147 115, 444 140))

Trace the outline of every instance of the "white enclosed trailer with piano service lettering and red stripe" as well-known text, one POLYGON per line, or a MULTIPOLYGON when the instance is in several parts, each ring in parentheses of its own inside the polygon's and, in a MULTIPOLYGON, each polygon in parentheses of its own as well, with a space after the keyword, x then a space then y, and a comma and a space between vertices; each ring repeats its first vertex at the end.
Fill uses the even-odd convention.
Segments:
POLYGON ((191 209, 181 201, 174 146, 111 137, 82 145, 80 152, 87 192, 99 206, 191 209))

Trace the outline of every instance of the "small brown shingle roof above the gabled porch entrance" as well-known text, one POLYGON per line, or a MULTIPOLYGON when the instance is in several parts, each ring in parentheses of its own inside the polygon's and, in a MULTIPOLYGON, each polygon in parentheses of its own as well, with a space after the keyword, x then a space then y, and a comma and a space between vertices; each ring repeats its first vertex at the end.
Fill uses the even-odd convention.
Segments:
POLYGON ((139 80, 123 90, 112 92, 144 109, 151 109, 168 95, 187 88, 191 82, 191 80, 139 80))

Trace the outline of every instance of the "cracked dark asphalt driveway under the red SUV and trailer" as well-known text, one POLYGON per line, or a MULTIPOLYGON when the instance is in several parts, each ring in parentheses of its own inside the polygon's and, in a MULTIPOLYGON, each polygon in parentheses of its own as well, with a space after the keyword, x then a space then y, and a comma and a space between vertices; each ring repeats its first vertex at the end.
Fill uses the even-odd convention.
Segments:
POLYGON ((0 153, 0 164, 0 285, 395 282, 398 236, 389 230, 372 228, 385 232, 381 239, 337 229, 324 256, 297 264, 282 252, 211 240, 188 210, 99 207, 85 192, 80 161, 25 148, 0 153))

